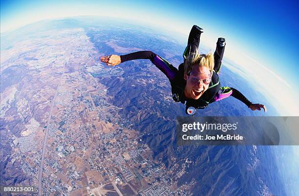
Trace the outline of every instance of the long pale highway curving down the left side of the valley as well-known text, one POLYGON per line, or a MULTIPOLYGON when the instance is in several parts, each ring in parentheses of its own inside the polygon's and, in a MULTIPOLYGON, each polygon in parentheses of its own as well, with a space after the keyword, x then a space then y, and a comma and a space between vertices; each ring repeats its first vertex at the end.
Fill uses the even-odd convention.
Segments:
MULTIPOLYGON (((64 61, 64 68, 65 68, 65 64, 66 64, 67 61, 64 61)), ((63 70, 64 70, 63 68, 63 70)), ((57 86, 57 89, 55 91, 55 96, 53 98, 53 101, 52 101, 52 106, 51 106, 51 109, 50 109, 50 114, 49 114, 49 117, 48 117, 48 122, 47 122, 47 128, 44 132, 44 139, 43 139, 43 152, 42 152, 42 160, 41 160, 41 167, 40 167, 40 173, 39 173, 39 196, 42 196, 43 193, 42 193, 42 179, 43 179, 43 159, 44 159, 44 154, 46 152, 46 146, 47 146, 47 137, 48 137, 48 131, 49 131, 49 125, 50 125, 50 122, 51 122, 51 117, 52 117, 52 112, 53 112, 53 108, 55 106, 55 100, 56 100, 56 97, 58 95, 58 89, 59 89, 59 86, 61 84, 61 81, 62 81, 62 78, 64 76, 64 72, 62 74, 62 76, 60 77, 60 80, 59 80, 59 84, 57 86)))

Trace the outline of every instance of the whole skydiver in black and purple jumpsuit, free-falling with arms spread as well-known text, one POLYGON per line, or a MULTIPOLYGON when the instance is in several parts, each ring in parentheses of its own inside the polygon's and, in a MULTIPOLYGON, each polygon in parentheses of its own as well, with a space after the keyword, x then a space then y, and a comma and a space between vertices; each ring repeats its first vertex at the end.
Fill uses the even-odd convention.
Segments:
POLYGON ((184 63, 180 64, 178 69, 151 51, 139 51, 120 56, 112 54, 102 56, 101 61, 108 66, 115 66, 129 60, 149 59, 168 77, 173 100, 186 105, 186 113, 189 115, 195 115, 196 109, 203 109, 229 96, 242 101, 252 110, 263 108, 266 112, 264 105, 251 103, 237 89, 220 86, 218 73, 226 44, 225 39, 218 38, 214 55, 211 52, 199 54, 198 46, 202 32, 200 27, 193 25, 183 54, 184 63))

